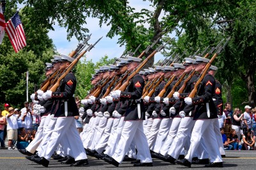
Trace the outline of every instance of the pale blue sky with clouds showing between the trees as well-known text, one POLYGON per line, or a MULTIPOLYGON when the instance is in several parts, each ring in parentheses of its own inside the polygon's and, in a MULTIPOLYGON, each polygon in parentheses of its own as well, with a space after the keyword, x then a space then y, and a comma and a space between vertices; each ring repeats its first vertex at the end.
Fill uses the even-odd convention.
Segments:
MULTIPOLYGON (((153 9, 152 6, 150 6, 149 1, 130 0, 129 5, 132 8, 135 8, 136 12, 140 12, 142 8, 147 8, 148 10, 153 9)), ((119 58, 124 52, 125 47, 120 47, 117 43, 118 36, 115 36, 112 39, 106 37, 110 26, 104 24, 102 27, 99 27, 99 19, 96 18, 88 18, 86 22, 88 23, 86 27, 90 30, 90 34, 92 33, 88 43, 95 43, 101 36, 103 36, 102 40, 95 45, 95 48, 90 50, 90 52, 86 52, 86 60, 92 59, 92 62, 96 63, 105 55, 109 56, 109 58, 119 58)), ((54 31, 49 31, 48 35, 49 38, 53 40, 53 43, 60 54, 69 54, 72 50, 76 49, 79 43, 76 37, 72 37, 70 42, 68 42, 67 29, 57 25, 54 25, 53 27, 54 31)), ((155 56, 155 62, 161 58, 163 58, 163 56, 158 52, 155 56)), ((82 59, 84 59, 84 57, 82 59)))

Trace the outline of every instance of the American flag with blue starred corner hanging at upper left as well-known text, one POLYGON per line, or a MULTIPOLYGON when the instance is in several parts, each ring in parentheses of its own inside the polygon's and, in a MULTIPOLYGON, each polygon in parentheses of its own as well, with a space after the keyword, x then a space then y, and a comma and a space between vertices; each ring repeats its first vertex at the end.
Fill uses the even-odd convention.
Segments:
POLYGON ((19 12, 16 12, 15 15, 13 15, 13 17, 8 20, 8 22, 6 22, 6 27, 4 30, 9 36, 12 47, 16 53, 27 45, 26 36, 20 20, 19 12))

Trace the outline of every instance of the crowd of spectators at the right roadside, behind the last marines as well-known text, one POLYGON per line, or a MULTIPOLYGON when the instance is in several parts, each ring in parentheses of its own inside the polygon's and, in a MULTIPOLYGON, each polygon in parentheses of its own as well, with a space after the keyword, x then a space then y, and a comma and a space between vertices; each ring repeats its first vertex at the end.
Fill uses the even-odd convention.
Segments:
POLYGON ((225 150, 256 150, 256 107, 244 107, 244 112, 225 104, 219 124, 225 150))

